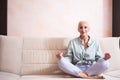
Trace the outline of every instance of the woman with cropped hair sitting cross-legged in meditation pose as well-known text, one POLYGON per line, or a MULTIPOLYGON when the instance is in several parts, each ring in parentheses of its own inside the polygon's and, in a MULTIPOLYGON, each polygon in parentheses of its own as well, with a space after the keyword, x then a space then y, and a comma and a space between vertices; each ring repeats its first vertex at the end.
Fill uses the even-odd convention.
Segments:
POLYGON ((109 68, 109 53, 102 51, 98 42, 92 39, 88 32, 90 27, 88 22, 80 21, 78 24, 79 37, 69 42, 66 56, 63 52, 58 52, 56 57, 58 67, 65 73, 87 79, 101 79, 100 74, 109 68))

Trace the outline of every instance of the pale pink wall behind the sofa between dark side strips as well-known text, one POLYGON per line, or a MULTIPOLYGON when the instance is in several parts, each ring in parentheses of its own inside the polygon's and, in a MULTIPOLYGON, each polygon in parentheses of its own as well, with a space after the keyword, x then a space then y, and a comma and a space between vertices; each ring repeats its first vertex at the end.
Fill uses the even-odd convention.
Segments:
POLYGON ((87 20, 93 37, 112 36, 112 0, 8 0, 8 35, 77 37, 87 20))

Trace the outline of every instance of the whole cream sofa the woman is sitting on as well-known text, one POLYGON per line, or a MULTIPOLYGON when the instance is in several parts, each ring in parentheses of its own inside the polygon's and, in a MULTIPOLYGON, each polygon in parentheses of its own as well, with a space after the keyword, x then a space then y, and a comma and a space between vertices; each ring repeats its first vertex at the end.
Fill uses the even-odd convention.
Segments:
MULTIPOLYGON (((70 38, 38 38, 0 35, 0 80, 73 80, 57 67, 56 53, 66 53, 70 38)), ((120 37, 96 39, 110 52, 105 80, 120 80, 120 37)), ((88 80, 88 79, 87 79, 88 80)))

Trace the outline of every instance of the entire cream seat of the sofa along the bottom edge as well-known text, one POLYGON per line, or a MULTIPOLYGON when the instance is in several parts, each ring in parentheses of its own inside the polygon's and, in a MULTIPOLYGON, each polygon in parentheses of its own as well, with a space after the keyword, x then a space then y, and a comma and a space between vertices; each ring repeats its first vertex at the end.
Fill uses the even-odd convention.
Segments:
MULTIPOLYGON (((23 75, 19 76, 13 73, 0 72, 0 80, 83 80, 82 78, 64 78, 65 75, 23 75)), ((104 73, 103 80, 120 80, 120 70, 104 73)), ((91 79, 84 79, 91 80, 91 79)), ((94 79, 97 80, 97 79, 94 79)))

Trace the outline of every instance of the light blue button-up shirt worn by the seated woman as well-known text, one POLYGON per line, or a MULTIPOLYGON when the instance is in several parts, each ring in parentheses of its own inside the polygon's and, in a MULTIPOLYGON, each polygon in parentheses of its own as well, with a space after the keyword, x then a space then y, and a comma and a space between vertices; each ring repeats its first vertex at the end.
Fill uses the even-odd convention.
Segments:
POLYGON ((102 51, 99 43, 91 39, 91 37, 87 48, 84 48, 82 40, 77 37, 69 42, 65 58, 75 64, 92 64, 102 58, 102 51))

